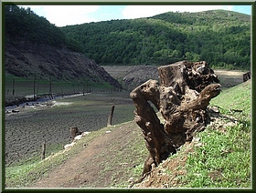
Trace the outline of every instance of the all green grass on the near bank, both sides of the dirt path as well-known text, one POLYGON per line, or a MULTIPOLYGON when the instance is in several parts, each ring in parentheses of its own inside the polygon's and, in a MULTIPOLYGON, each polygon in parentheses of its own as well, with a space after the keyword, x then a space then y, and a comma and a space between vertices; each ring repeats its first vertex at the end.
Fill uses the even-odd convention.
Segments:
MULTIPOLYGON (((198 134, 204 146, 195 147, 195 151, 188 155, 186 170, 187 175, 179 178, 179 187, 188 188, 248 188, 251 186, 251 82, 240 84, 229 88, 225 93, 211 101, 211 105, 221 107, 221 114, 231 114, 237 119, 234 127, 225 126, 225 134, 214 127, 208 127, 204 132, 198 134), (229 109, 240 109, 242 113, 229 113, 229 109), (211 175, 215 175, 212 178, 211 175)), ((223 121, 229 122, 225 117, 223 121)), ((134 127, 134 123, 130 123, 134 127)), ((116 129, 118 127, 112 127, 116 129)), ((108 128, 102 128, 92 133, 90 137, 81 139, 78 146, 72 148, 68 153, 59 154, 48 159, 50 161, 39 161, 32 165, 14 168, 6 168, 6 184, 10 187, 23 187, 41 175, 47 175, 50 168, 55 168, 67 158, 77 155, 80 151, 80 143, 88 143, 104 134, 108 128), (86 140, 86 141, 85 141, 86 140), (29 174, 29 175, 28 175, 29 174)), ((133 149, 142 151, 146 155, 144 141, 134 140, 131 146, 131 154, 125 152, 125 157, 133 157, 133 149)), ((181 152, 182 153, 182 150, 181 152)), ((120 153, 116 160, 122 160, 124 155, 120 153)), ((176 157, 176 155, 174 156, 176 157)), ((142 171, 144 157, 137 167, 125 168, 125 175, 137 178, 142 171)), ((172 157, 169 158, 172 160, 172 157)), ((106 160, 106 165, 112 166, 112 160, 106 160)), ((110 168, 111 169, 111 168, 110 168)), ((107 171, 106 171, 107 172, 107 171)), ((114 187, 127 187, 126 178, 119 181, 114 187)))

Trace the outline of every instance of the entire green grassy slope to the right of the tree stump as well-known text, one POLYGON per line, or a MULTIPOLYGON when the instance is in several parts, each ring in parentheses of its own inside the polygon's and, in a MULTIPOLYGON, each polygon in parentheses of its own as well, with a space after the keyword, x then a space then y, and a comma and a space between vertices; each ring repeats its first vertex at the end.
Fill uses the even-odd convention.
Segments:
POLYGON ((221 107, 223 123, 215 123, 197 135, 204 145, 195 147, 188 156, 187 175, 182 183, 188 188, 249 188, 251 81, 229 88, 210 104, 221 107), (234 122, 233 126, 229 122, 234 122))

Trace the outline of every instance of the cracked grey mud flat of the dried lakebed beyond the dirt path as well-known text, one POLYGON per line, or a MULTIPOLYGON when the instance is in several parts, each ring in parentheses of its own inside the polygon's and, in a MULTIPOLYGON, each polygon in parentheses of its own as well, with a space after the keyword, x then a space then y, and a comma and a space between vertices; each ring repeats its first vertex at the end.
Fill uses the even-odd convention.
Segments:
POLYGON ((59 98, 48 106, 18 107, 5 114, 5 164, 40 159, 41 144, 47 142, 47 156, 70 142, 69 127, 82 131, 106 127, 112 105, 112 125, 133 119, 133 101, 122 93, 91 94, 59 98))

